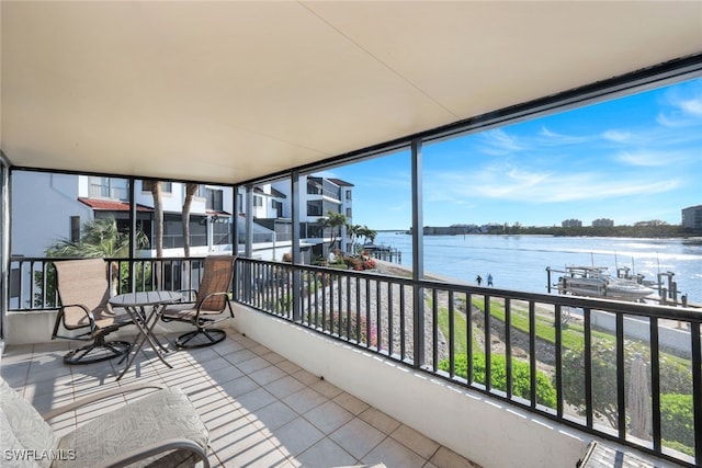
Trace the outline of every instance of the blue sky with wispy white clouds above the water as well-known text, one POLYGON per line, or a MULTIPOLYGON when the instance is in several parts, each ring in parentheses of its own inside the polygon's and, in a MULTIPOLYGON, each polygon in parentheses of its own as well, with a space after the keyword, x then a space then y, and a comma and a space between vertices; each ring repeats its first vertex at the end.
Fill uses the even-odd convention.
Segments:
MULTIPOLYGON (((424 226, 680 224, 702 204, 702 79, 423 147, 424 226)), ((409 151, 317 173, 354 184, 353 224, 411 225, 409 151)))

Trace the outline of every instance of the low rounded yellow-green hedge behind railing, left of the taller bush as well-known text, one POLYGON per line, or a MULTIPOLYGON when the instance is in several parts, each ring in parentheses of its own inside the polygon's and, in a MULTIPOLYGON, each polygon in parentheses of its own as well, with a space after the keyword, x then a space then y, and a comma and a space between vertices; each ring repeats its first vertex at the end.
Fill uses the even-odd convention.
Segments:
MULTIPOLYGON (((507 359, 503 355, 491 356, 490 385, 492 388, 507 391, 507 359)), ((454 361, 456 375, 468 377, 468 356, 465 353, 457 354, 454 361)), ((439 363, 439 368, 449 370, 449 359, 439 363)), ((473 379, 485 385, 485 354, 473 355, 473 379)), ((531 369, 528 363, 512 359, 512 393, 530 399, 531 369)), ((551 384, 548 377, 536 370, 536 402, 548 408, 556 408, 556 389, 551 384)))

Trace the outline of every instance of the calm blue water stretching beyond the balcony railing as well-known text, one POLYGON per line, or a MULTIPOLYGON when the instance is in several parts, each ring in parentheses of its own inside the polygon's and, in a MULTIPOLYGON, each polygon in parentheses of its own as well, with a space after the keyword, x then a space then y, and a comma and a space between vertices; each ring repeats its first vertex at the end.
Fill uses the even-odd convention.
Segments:
MULTIPOLYGON (((403 252, 411 265, 411 237, 378 232, 375 243, 403 252)), ((629 266, 646 279, 673 272, 678 290, 702 303, 702 238, 630 239, 547 236, 426 236, 424 272, 473 282, 492 274, 495 287, 531 293, 546 292, 546 266, 629 266)))

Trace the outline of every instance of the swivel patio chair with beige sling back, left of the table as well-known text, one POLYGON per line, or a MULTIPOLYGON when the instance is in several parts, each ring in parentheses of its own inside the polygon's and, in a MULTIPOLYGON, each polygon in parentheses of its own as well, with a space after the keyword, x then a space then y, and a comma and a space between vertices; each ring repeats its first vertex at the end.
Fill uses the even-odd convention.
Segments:
POLYGON ((64 356, 66 364, 91 364, 122 356, 131 346, 126 341, 106 341, 105 335, 131 324, 126 313, 115 313, 107 303, 110 289, 103 259, 54 262, 61 307, 56 316, 52 340, 90 341, 64 356), (59 330, 76 333, 61 335, 59 330))

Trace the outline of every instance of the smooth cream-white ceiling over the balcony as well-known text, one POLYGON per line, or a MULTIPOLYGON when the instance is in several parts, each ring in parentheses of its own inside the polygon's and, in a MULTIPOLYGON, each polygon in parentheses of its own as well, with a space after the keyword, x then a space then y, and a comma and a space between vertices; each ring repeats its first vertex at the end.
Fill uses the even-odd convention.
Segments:
POLYGON ((2 1, 13 164, 235 183, 702 52, 702 1, 2 1))

